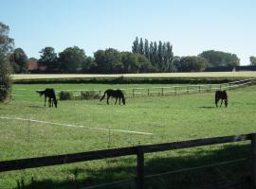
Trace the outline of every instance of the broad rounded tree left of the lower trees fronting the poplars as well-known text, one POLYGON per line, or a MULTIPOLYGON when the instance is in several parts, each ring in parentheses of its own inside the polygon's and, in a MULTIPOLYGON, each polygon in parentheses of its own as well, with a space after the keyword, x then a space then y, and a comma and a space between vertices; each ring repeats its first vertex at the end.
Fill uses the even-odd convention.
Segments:
POLYGON ((98 50, 94 53, 94 59, 97 71, 100 73, 120 73, 123 70, 121 55, 114 48, 98 50))

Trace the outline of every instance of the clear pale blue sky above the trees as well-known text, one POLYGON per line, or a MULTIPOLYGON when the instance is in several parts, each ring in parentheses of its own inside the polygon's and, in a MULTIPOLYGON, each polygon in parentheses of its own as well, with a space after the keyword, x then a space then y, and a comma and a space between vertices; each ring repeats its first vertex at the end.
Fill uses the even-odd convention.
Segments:
POLYGON ((176 56, 204 50, 256 56, 256 0, 0 0, 0 22, 27 57, 52 46, 131 51, 136 37, 170 42, 176 56))

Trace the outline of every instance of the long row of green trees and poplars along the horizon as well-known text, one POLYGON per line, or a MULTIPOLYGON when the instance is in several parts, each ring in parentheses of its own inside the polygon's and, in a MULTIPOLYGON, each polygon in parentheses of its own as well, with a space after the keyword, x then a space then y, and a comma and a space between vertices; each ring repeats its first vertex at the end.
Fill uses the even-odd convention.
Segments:
MULTIPOLYGON (((132 52, 107 48, 96 51, 93 57, 90 57, 78 46, 67 47, 60 53, 56 53, 53 47, 46 46, 39 53, 38 62, 46 66, 46 73, 201 72, 208 67, 233 67, 240 64, 235 54, 214 50, 203 51, 197 56, 174 56, 173 45, 170 42, 149 42, 142 38, 136 38, 132 43, 132 52)), ((251 56, 249 59, 251 65, 256 65, 255 57, 251 56)), ((10 55, 15 73, 27 71, 27 60, 22 48, 15 49, 10 55)))

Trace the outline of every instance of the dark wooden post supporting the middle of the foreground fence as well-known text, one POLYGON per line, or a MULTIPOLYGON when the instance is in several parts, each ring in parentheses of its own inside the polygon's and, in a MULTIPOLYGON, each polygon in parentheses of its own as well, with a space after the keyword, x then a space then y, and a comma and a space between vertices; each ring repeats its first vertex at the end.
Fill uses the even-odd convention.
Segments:
POLYGON ((142 146, 137 146, 137 189, 144 188, 144 152, 142 146))

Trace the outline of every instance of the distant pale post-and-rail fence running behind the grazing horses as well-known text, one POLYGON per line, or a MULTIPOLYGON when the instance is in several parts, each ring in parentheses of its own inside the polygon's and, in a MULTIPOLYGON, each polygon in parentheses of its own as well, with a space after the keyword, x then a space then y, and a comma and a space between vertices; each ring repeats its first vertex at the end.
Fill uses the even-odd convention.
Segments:
MULTIPOLYGON (((198 84, 198 85, 174 85, 170 87, 152 87, 152 88, 126 88, 122 90, 126 96, 135 97, 137 95, 150 96, 150 95, 170 95, 170 94, 191 94, 203 93, 216 90, 231 90, 245 85, 255 83, 256 78, 247 78, 222 84, 198 84)), ((82 94, 94 96, 101 96, 104 91, 101 90, 65 90, 73 94, 75 99, 82 97, 82 94)))

